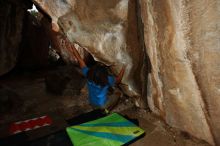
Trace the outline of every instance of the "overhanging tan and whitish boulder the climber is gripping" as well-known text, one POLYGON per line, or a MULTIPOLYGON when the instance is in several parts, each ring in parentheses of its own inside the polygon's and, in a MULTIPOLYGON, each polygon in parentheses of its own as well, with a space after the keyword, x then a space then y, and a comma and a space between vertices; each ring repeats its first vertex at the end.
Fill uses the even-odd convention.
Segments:
POLYGON ((142 93, 143 51, 137 36, 136 2, 132 0, 34 0, 71 42, 85 47, 95 60, 113 65, 118 73, 127 65, 126 93, 142 93))

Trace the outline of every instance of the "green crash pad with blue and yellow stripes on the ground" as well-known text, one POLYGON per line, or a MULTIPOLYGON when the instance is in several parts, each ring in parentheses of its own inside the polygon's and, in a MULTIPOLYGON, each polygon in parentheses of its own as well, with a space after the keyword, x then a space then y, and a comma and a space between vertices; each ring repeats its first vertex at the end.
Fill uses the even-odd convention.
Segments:
POLYGON ((66 131, 74 146, 121 146, 144 134, 144 130, 117 113, 67 127, 66 131))

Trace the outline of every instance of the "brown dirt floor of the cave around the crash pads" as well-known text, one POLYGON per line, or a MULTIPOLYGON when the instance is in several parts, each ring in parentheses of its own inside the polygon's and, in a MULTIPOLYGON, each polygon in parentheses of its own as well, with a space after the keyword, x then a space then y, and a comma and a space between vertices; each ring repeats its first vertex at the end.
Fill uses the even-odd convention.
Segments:
MULTIPOLYGON (((93 110, 87 96, 86 80, 77 68, 17 70, 0 78, 0 125, 51 113, 68 120, 93 110)), ((137 119, 145 130, 131 146, 209 146, 135 107, 129 97, 122 97, 113 111, 137 119)))

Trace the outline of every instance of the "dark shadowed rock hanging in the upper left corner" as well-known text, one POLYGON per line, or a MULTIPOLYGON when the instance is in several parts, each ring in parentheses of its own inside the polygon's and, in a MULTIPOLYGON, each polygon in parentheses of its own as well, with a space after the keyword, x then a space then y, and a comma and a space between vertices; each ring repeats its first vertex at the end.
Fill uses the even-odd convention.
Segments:
POLYGON ((0 75, 10 71, 17 62, 24 13, 29 3, 23 0, 0 1, 0 75))

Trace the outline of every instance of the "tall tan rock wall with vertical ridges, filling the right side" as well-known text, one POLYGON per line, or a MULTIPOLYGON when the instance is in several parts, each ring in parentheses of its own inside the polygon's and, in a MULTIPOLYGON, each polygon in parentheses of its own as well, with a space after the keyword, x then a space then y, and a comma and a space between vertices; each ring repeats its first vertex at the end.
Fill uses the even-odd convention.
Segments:
POLYGON ((220 1, 139 3, 152 66, 151 110, 171 126, 220 145, 220 1))

